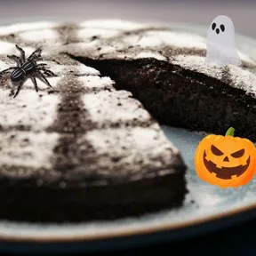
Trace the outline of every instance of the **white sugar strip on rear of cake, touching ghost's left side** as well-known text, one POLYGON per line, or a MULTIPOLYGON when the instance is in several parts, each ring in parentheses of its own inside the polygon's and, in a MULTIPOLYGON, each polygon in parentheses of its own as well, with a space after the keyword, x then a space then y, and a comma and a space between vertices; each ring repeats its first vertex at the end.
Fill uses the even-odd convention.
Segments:
POLYGON ((184 32, 172 31, 148 31, 141 36, 138 44, 141 47, 156 47, 163 45, 175 46, 177 48, 206 48, 206 41, 203 36, 184 32))

